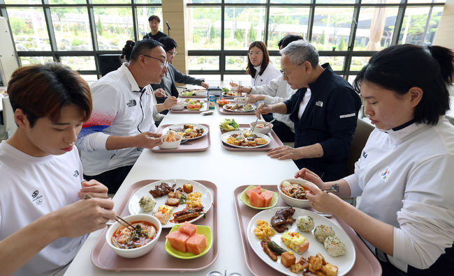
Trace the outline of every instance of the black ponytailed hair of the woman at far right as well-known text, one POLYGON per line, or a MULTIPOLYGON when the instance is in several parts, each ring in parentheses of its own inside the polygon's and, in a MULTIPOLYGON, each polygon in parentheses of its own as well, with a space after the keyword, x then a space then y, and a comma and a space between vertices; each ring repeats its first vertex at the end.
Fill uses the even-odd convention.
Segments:
POLYGON ((454 54, 441 46, 393 45, 374 54, 353 82, 360 93, 363 80, 404 95, 413 86, 423 90, 416 106, 416 123, 435 125, 449 109, 454 54))

